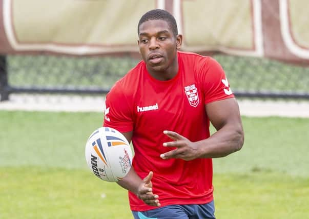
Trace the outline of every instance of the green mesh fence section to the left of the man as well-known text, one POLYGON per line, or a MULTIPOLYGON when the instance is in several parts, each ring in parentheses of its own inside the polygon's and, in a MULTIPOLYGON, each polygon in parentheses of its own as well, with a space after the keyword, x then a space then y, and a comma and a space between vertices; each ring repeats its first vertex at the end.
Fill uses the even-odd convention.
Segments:
POLYGON ((13 87, 110 89, 138 60, 117 57, 8 56, 13 87))

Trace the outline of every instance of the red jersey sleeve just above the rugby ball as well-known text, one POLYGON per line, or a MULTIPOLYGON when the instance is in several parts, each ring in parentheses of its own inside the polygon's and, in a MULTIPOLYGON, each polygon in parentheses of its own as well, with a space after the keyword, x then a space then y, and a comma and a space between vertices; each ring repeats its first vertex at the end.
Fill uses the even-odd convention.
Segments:
POLYGON ((121 84, 117 82, 107 94, 103 126, 129 132, 133 130, 133 117, 129 101, 122 90, 121 84))

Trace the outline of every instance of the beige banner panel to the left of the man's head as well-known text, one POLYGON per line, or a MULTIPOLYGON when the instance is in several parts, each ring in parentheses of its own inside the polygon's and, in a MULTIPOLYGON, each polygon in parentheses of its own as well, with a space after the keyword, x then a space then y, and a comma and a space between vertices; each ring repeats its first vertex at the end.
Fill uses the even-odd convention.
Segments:
POLYGON ((20 43, 136 45, 139 18, 155 1, 14 0, 12 6, 20 43))

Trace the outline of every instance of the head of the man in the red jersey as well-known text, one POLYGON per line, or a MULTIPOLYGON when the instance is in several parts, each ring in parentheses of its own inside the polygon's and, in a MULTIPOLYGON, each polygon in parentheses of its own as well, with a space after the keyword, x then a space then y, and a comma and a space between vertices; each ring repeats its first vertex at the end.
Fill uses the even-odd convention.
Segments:
POLYGON ((155 9, 144 14, 138 23, 138 46, 149 73, 166 80, 178 72, 177 50, 182 36, 169 12, 155 9))

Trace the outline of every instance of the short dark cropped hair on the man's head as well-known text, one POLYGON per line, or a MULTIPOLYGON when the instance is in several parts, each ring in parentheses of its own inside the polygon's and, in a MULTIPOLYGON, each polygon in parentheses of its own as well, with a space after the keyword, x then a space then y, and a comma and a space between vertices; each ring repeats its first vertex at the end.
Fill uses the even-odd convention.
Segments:
POLYGON ((139 26, 147 22, 149 20, 163 20, 166 21, 169 24, 169 27, 172 29, 172 32, 175 36, 178 35, 178 30, 177 30, 177 23, 172 14, 170 14, 166 10, 162 9, 153 9, 148 12, 146 12, 142 17, 139 19, 138 26, 137 26, 137 33, 139 34, 139 26))

